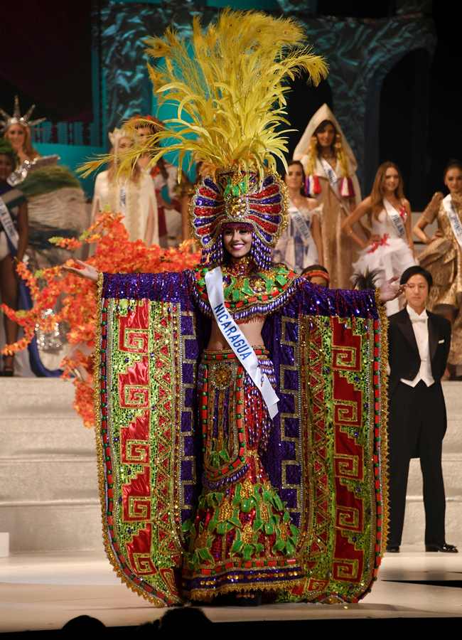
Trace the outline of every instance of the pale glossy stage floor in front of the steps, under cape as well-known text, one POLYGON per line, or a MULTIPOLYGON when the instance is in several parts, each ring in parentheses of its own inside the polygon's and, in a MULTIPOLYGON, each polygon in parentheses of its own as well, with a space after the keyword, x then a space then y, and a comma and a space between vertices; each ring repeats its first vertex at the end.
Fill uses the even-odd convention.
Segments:
MULTIPOLYGON (((213 622, 339 618, 462 617, 462 553, 404 547, 385 555, 380 578, 360 604, 268 604, 205 607, 213 622), (430 582, 430 584, 429 584, 430 582)), ((0 633, 59 629, 87 614, 107 626, 161 617, 119 582, 102 553, 18 554, 0 558, 0 633)))

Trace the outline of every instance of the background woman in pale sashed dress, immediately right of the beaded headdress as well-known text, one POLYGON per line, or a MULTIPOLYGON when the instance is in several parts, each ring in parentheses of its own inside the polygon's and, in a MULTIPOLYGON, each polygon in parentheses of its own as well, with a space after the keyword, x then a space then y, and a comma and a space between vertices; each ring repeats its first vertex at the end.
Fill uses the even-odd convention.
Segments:
POLYGON ((284 262, 300 273, 316 262, 323 262, 321 242, 321 207, 315 198, 305 196, 305 172, 299 160, 289 163, 284 177, 289 194, 287 227, 273 252, 274 262, 284 262))

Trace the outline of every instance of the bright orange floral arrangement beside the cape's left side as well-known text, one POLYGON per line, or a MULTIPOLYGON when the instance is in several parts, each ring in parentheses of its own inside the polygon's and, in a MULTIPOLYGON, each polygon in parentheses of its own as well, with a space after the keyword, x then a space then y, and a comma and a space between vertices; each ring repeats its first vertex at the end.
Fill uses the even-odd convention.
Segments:
MULTIPOLYGON (((54 245, 68 250, 78 250, 82 245, 95 245, 95 253, 87 259, 100 272, 107 273, 157 273, 182 271, 195 267, 199 254, 191 252, 193 241, 186 240, 178 249, 161 249, 157 245, 146 247, 144 242, 130 242, 127 230, 121 222, 122 215, 103 213, 79 238, 51 238, 54 245)), ((23 327, 23 338, 5 346, 1 353, 10 355, 22 351, 33 339, 36 327, 52 331, 55 323, 65 321, 70 327, 68 343, 75 345, 70 356, 61 366, 63 378, 72 378, 75 385, 74 407, 82 417, 85 427, 95 425, 93 410, 93 357, 95 349, 97 301, 96 284, 63 269, 75 266, 74 260, 65 265, 50 267, 31 273, 23 262, 17 266, 18 274, 26 282, 33 308, 14 311, 6 304, 0 309, 11 320, 23 327), (55 309, 60 298, 60 310, 55 309)))

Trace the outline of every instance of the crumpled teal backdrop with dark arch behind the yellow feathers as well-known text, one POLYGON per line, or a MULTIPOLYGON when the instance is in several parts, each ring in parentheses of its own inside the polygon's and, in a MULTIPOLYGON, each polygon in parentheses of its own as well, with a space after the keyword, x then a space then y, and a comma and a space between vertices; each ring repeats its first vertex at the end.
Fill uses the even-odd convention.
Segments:
MULTIPOLYGON (((94 121, 85 127, 78 122, 58 123, 53 127, 53 134, 50 123, 37 127, 38 151, 44 155, 57 153, 62 164, 76 169, 85 159, 107 151, 107 132, 120 127, 124 119, 146 113, 169 117, 173 107, 163 107, 159 112, 151 91, 144 38, 161 35, 171 24, 188 37, 193 16, 200 15, 203 24, 207 24, 225 6, 294 16, 303 23, 316 53, 328 60, 328 102, 358 159, 362 188, 369 188, 379 162, 382 84, 387 74, 409 53, 423 50, 431 61, 436 36, 433 21, 426 16, 399 14, 369 21, 316 16, 316 0, 95 1, 92 13, 94 121)), ((306 126, 320 106, 315 93, 309 96, 303 110, 300 112, 298 105, 294 115, 299 129, 306 126)), ((412 107, 412 119, 419 144, 425 146, 425 96, 421 98, 412 107)), ((289 107, 295 102, 289 103, 289 107)), ((293 149, 292 142, 296 140, 291 139, 293 149)), ((175 157, 169 160, 175 162, 175 157)), ((89 197, 94 181, 94 176, 82 181, 89 197)))

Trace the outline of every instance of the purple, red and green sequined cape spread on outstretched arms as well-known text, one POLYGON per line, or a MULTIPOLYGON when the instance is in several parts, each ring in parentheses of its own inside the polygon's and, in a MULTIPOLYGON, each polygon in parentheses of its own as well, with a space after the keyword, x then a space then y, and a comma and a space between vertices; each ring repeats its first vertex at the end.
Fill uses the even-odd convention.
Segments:
MULTIPOLYGON (((104 543, 119 577, 158 607, 183 602, 182 524, 200 491, 196 371, 210 328, 202 274, 104 274, 99 283, 104 543)), ((278 287, 246 316, 271 311, 263 336, 280 402, 263 459, 300 528, 304 572, 286 599, 357 602, 387 533, 385 313, 373 292, 321 289, 294 274, 278 287)))

